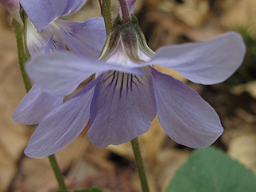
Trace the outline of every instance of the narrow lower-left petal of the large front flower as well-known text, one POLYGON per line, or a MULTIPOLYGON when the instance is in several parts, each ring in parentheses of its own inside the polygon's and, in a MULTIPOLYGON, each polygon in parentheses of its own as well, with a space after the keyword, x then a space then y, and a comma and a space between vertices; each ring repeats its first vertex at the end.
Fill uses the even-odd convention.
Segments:
POLYGON ((52 155, 83 131, 90 118, 95 83, 96 79, 43 118, 25 148, 26 156, 41 158, 52 155))

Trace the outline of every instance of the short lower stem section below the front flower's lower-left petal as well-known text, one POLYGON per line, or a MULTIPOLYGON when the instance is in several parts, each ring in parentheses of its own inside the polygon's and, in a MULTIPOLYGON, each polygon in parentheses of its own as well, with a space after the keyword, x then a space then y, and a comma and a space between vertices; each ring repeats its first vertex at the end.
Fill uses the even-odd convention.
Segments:
POLYGON ((49 159, 49 161, 52 165, 52 170, 54 172, 56 180, 59 183, 60 190, 67 190, 67 187, 65 186, 63 176, 62 176, 61 171, 60 171, 60 167, 59 167, 59 165, 56 161, 56 158, 55 158, 54 154, 52 154, 51 156, 48 156, 48 159, 49 159))

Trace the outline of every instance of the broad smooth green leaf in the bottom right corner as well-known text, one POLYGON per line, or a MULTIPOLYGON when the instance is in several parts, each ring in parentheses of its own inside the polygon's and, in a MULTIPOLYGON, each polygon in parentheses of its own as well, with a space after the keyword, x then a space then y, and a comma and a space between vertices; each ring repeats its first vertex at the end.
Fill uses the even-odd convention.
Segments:
POLYGON ((252 192, 256 176, 219 150, 196 149, 176 171, 166 192, 252 192))

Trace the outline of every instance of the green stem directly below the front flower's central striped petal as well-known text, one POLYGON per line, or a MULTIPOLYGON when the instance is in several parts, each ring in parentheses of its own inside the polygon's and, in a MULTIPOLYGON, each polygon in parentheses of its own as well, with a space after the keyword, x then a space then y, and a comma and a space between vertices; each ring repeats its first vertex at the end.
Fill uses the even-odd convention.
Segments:
POLYGON ((140 149, 140 145, 138 143, 138 137, 136 137, 134 140, 131 140, 130 142, 133 147, 134 157, 136 159, 136 163, 137 163, 137 167, 138 167, 138 175, 141 180, 142 191, 149 192, 149 185, 148 185, 146 175, 145 175, 145 167, 144 167, 144 163, 143 163, 143 159, 142 159, 142 152, 140 149))

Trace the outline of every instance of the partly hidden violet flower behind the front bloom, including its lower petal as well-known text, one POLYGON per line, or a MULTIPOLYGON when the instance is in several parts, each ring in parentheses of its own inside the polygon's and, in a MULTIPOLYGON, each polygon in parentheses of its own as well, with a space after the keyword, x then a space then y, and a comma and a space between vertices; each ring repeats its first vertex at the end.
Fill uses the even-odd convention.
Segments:
MULTIPOLYGON (((20 2, 30 18, 26 20, 25 34, 32 57, 66 50, 66 45, 77 55, 98 59, 106 40, 103 18, 95 17, 83 23, 59 19, 64 15, 76 13, 87 0, 20 2)), ((38 124, 45 114, 60 106, 63 99, 62 95, 43 92, 35 84, 15 109, 13 119, 21 124, 38 124)))

